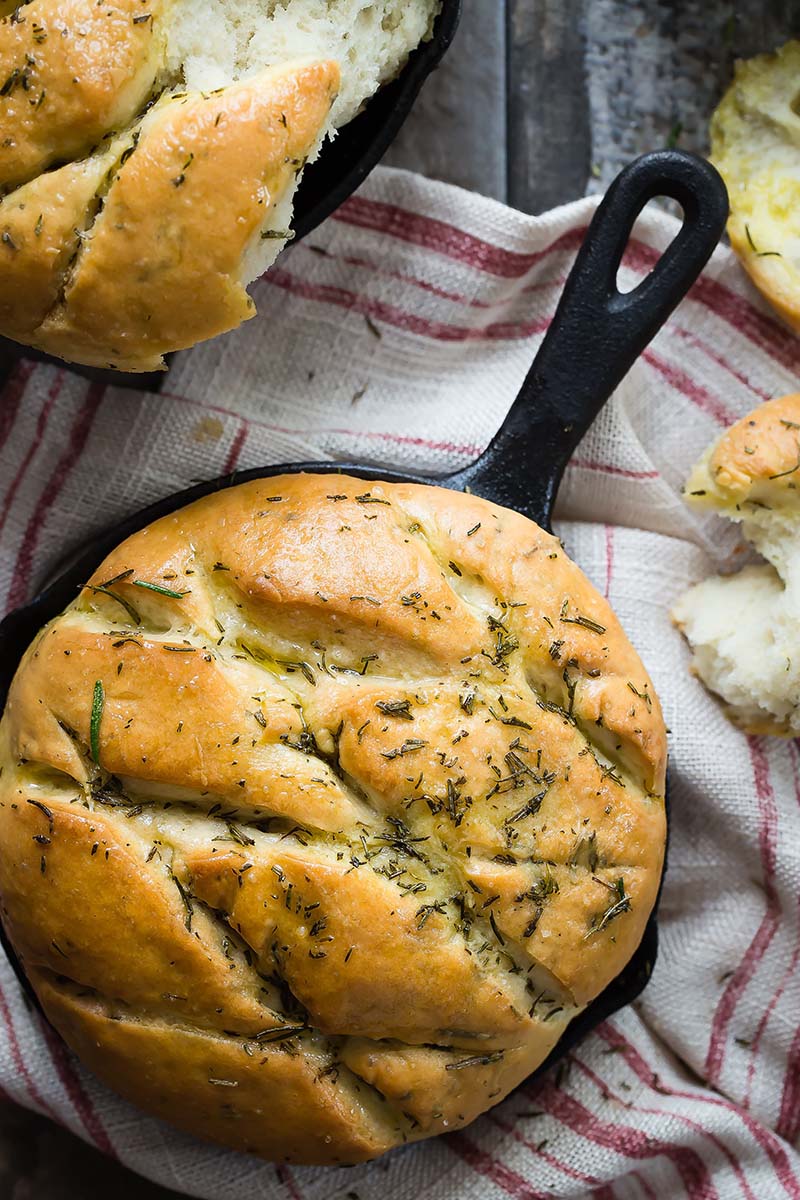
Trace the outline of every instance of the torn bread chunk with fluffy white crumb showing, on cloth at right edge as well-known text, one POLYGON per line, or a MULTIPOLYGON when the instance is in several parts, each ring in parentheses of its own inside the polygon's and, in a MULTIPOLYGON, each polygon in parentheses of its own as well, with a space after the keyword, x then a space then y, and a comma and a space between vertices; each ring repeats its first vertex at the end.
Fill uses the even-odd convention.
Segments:
POLYGON ((686 498, 766 559, 691 588, 674 617, 693 667, 748 733, 800 734, 800 394, 762 404, 697 464, 686 498))

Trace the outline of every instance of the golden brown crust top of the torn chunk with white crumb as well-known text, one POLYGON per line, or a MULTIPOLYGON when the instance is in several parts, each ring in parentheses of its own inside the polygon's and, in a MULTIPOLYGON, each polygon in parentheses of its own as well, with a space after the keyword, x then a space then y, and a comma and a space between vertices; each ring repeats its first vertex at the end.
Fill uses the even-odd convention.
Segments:
POLYGON ((700 508, 800 498, 800 392, 769 400, 726 430, 694 467, 686 497, 700 508))

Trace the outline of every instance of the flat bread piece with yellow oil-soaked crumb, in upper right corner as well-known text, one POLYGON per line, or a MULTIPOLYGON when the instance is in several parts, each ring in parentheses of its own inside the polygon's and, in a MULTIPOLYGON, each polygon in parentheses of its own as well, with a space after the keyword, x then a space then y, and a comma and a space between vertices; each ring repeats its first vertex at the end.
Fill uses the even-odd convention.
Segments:
POLYGON ((711 120, 728 235, 756 287, 800 331, 800 41, 736 64, 711 120))

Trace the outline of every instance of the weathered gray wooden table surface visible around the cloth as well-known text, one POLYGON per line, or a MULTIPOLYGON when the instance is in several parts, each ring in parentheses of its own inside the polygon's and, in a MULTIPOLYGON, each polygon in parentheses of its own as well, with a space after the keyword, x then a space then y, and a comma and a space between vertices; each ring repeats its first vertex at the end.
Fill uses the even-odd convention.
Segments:
MULTIPOLYGON (((449 60, 389 162, 528 212, 602 188, 644 150, 678 144, 703 152, 735 58, 800 35, 800 0, 463 2, 449 60)), ((0 1104, 2 1200, 106 1195, 173 1193, 0 1104)))

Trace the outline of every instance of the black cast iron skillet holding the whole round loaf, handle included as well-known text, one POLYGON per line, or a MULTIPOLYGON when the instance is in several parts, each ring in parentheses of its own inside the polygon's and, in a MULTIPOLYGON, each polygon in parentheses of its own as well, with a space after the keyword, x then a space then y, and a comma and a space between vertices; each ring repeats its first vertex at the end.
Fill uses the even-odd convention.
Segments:
MULTIPOLYGON (((167 497, 95 538, 54 583, 0 624, 0 704, 5 704, 12 676, 37 631, 74 599, 120 541, 192 500, 247 480, 299 472, 347 472, 390 482, 469 487, 548 528, 558 485, 572 451, 705 266, 727 216, 724 185, 709 163, 676 150, 638 158, 621 173, 600 205, 519 396, 477 462, 444 479, 377 470, 357 463, 293 463, 236 472, 167 497), (633 292, 622 294, 616 287, 616 274, 633 222, 648 200, 657 196, 678 200, 684 210, 682 227, 652 272, 633 292)), ((2 943, 32 995, 5 935, 2 943)), ((654 908, 631 961, 572 1022, 540 1070, 639 995, 652 972, 656 950, 654 908)))

